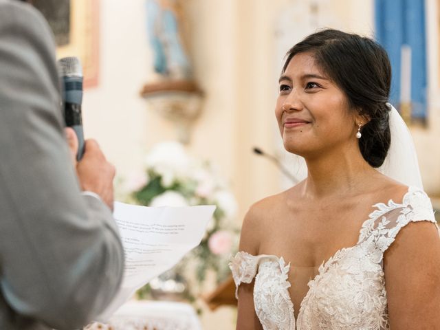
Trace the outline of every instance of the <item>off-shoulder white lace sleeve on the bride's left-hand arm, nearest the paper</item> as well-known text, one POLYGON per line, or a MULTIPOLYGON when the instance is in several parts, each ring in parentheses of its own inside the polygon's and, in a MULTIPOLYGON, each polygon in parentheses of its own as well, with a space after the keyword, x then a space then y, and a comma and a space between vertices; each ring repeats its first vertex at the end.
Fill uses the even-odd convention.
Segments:
POLYGON ((248 252, 237 252, 237 254, 230 259, 229 267, 232 272, 232 278, 235 283, 235 298, 238 297, 239 285, 241 283, 252 283, 256 272, 258 271, 259 263, 263 259, 272 259, 275 256, 267 256, 261 254, 259 256, 252 256, 248 252))

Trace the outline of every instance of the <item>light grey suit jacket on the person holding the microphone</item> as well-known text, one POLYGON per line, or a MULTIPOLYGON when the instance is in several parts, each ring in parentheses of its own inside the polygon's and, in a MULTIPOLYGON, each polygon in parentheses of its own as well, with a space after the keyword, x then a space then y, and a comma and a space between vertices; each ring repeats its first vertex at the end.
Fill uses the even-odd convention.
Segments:
POLYGON ((0 329, 82 327, 123 265, 111 211, 81 195, 69 157, 52 32, 0 0, 0 329))

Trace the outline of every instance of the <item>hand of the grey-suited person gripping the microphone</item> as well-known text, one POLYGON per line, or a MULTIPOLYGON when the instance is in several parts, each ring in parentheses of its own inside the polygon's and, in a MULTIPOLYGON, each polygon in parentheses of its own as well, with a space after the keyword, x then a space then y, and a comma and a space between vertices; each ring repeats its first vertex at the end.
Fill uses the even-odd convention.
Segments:
POLYGON ((76 162, 78 152, 78 138, 73 129, 66 127, 65 134, 72 157, 76 167, 76 173, 83 190, 95 192, 99 195, 111 210, 113 210, 113 178, 115 177, 115 166, 107 162, 98 143, 95 140, 85 141, 85 152, 83 158, 76 162))

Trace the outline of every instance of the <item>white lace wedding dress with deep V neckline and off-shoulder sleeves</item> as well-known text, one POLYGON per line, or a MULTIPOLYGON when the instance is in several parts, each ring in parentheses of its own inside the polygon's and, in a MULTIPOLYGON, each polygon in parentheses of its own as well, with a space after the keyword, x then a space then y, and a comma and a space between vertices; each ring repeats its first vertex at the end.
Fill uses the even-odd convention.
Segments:
POLYGON ((399 230, 412 221, 435 223, 430 199, 408 189, 402 203, 377 203, 360 230, 358 243, 338 250, 309 281, 298 320, 287 281, 290 264, 272 255, 238 252, 230 263, 238 289, 254 283, 256 315, 265 330, 389 329, 383 255, 399 230))

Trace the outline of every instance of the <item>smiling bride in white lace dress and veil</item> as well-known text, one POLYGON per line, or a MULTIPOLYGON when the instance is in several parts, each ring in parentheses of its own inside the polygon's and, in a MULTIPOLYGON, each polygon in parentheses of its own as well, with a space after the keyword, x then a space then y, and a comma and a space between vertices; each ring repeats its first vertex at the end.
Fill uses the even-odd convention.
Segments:
POLYGON ((287 53, 275 115, 307 178, 255 203, 230 267, 237 329, 439 329, 440 239, 371 39, 311 34, 287 53))

